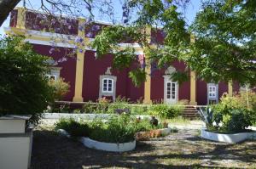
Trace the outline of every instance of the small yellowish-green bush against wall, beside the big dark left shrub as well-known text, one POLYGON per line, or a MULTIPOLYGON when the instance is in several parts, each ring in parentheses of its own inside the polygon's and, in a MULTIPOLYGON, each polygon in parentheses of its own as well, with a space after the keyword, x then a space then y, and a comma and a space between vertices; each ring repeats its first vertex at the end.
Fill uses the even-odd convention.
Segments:
POLYGON ((54 89, 53 95, 55 100, 61 100, 69 92, 69 82, 64 82, 62 78, 50 80, 49 86, 54 89))

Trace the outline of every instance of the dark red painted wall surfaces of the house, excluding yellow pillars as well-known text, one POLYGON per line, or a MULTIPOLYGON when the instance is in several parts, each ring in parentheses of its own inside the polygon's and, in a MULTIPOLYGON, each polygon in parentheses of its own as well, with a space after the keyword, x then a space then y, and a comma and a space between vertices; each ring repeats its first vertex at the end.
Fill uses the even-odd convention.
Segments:
MULTIPOLYGON (((17 10, 12 11, 11 13, 11 20, 10 20, 10 27, 15 27, 17 25, 17 10)), ((49 16, 47 16, 49 17, 49 16)), ((61 28, 61 24, 59 20, 55 20, 53 17, 51 21, 54 22, 52 27, 49 25, 41 22, 44 18, 44 14, 35 14, 34 12, 26 12, 26 22, 25 26, 26 29, 33 30, 33 31, 49 31, 55 32, 62 35, 73 35, 77 36, 80 30, 79 28, 79 20, 69 20, 63 19, 67 22, 67 25, 72 25, 71 27, 63 27, 61 28)), ((62 20, 62 21, 63 21, 62 20)), ((84 37, 94 38, 96 34, 98 34, 102 27, 110 26, 104 25, 100 23, 94 23, 90 25, 86 25, 83 27, 85 31, 84 37)), ((151 30, 151 43, 154 42, 163 42, 164 40, 164 32, 161 30, 151 30)), ((127 42, 132 43, 129 38, 127 38, 127 42)), ((43 54, 46 56, 51 57, 55 60, 55 67, 60 68, 60 76, 64 79, 65 82, 69 82, 70 84, 70 91, 67 93, 67 96, 64 100, 73 101, 74 93, 75 93, 75 86, 76 86, 76 78, 82 78, 82 97, 84 101, 96 101, 99 99, 99 90, 100 90, 100 76, 104 75, 108 67, 112 67, 113 62, 113 55, 108 54, 104 56, 102 59, 96 59, 95 52, 93 50, 86 50, 84 53, 84 71, 83 76, 76 77, 76 69, 77 63, 79 60, 76 59, 76 54, 73 54, 73 48, 63 48, 63 47, 55 47, 54 51, 52 46, 47 43, 37 43, 32 42, 33 48, 35 49, 38 54, 43 54), (44 44, 43 44, 44 43, 44 44), (73 54, 73 57, 68 56, 69 54, 73 54)), ((186 65, 180 61, 172 62, 172 67, 178 71, 184 71, 186 65)), ((125 68, 124 70, 112 70, 112 75, 116 77, 116 97, 121 96, 127 99, 131 99, 131 101, 136 102, 138 99, 144 98, 144 83, 141 87, 135 87, 131 79, 129 78, 129 70, 131 68, 125 68)), ((165 69, 155 70, 151 75, 151 88, 150 88, 150 99, 153 102, 163 102, 165 98, 165 69)), ((197 104, 207 104, 208 103, 208 88, 207 82, 203 82, 200 79, 197 79, 195 82, 195 101, 197 104)), ((222 96, 223 93, 228 92, 228 84, 224 82, 219 82, 218 85, 218 98, 222 96)), ((178 100, 188 100, 190 99, 190 81, 183 82, 183 84, 177 85, 177 101, 178 100)), ((234 82, 233 85, 233 92, 239 91, 239 84, 234 82)))

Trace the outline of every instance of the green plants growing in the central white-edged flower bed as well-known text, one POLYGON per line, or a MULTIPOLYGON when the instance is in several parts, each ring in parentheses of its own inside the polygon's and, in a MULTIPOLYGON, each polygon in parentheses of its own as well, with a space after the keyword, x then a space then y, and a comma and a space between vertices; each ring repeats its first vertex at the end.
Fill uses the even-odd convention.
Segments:
POLYGON ((73 137, 89 137, 107 143, 125 143, 134 140, 136 132, 162 128, 153 126, 148 119, 137 119, 131 115, 112 115, 107 121, 96 118, 93 121, 61 119, 55 129, 64 129, 73 137))

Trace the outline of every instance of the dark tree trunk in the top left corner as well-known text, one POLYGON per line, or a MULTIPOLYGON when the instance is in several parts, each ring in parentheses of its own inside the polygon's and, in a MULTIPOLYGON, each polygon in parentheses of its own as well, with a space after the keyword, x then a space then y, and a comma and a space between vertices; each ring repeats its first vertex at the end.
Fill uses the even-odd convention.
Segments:
POLYGON ((0 27, 19 2, 20 0, 0 0, 0 27))

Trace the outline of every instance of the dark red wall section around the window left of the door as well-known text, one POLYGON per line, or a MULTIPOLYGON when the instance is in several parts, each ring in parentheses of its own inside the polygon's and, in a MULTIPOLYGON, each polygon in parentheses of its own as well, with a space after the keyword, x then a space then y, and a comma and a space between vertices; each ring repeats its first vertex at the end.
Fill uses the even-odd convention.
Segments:
MULTIPOLYGON (((84 82, 83 98, 84 101, 96 101, 99 97, 100 75, 104 75, 108 67, 112 66, 113 57, 108 54, 101 59, 95 58, 94 51, 86 51, 84 54, 84 82)), ((134 87, 128 77, 128 69, 113 70, 113 76, 117 76, 116 96, 130 98, 136 101, 143 97, 143 87, 134 87)))

